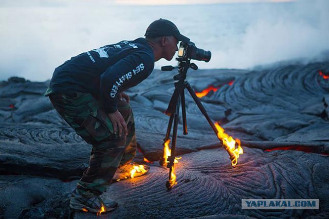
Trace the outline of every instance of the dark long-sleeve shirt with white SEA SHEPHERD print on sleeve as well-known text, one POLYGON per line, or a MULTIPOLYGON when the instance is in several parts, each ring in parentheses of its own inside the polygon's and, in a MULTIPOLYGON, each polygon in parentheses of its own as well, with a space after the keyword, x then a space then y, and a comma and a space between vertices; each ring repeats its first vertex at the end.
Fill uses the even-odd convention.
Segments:
POLYGON ((107 113, 113 113, 117 94, 142 82, 153 68, 153 50, 144 38, 121 41, 81 53, 57 67, 50 93, 91 93, 101 99, 107 113))

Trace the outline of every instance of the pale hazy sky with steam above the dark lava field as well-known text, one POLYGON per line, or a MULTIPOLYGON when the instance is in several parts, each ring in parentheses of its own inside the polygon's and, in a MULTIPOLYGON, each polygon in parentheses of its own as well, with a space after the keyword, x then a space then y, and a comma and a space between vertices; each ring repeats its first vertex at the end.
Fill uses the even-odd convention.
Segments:
MULTIPOLYGON (((10 76, 45 81, 70 57, 142 37, 160 17, 173 21, 197 47, 211 50, 209 63, 196 63, 200 69, 246 69, 299 58, 314 62, 322 58, 322 51, 329 51, 329 0, 152 0, 182 5, 138 7, 127 6, 128 1, 150 2, 0 0, 4 51, 0 53, 0 81, 10 76), (236 4, 197 4, 201 2, 236 4)), ((329 58, 328 52, 323 54, 329 58)), ((155 68, 164 65, 177 62, 161 59, 155 68)))

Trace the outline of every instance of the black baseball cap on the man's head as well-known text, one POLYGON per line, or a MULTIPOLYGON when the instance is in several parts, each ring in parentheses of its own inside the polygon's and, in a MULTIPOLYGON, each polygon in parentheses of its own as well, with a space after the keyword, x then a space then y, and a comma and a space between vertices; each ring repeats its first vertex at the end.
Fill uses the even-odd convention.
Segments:
POLYGON ((146 30, 144 36, 146 37, 174 36, 176 37, 177 41, 182 41, 185 43, 190 41, 190 38, 181 35, 179 33, 179 30, 176 27, 176 25, 174 25, 174 23, 162 18, 152 22, 148 27, 148 29, 146 30))

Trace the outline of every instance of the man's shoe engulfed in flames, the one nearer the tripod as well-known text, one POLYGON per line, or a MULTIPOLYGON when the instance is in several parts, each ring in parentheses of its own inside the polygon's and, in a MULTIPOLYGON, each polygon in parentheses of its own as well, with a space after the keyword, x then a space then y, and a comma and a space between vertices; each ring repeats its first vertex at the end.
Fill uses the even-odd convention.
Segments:
POLYGON ((119 167, 113 176, 113 181, 126 180, 127 178, 135 178, 145 175, 149 172, 150 167, 146 164, 137 164, 130 162, 122 167, 119 167))

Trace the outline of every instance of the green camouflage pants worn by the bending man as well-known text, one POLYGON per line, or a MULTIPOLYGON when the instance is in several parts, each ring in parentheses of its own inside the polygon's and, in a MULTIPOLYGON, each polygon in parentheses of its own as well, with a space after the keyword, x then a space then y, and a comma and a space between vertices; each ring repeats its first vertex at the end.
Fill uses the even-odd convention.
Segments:
POLYGON ((78 135, 93 145, 89 167, 78 182, 80 194, 92 197, 103 193, 111 184, 118 167, 130 162, 136 154, 133 111, 125 101, 118 110, 128 129, 128 135, 114 134, 113 125, 102 105, 89 93, 49 95, 54 108, 78 135))

